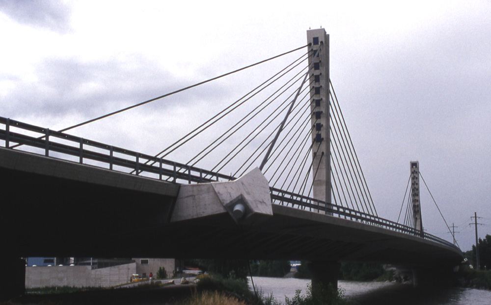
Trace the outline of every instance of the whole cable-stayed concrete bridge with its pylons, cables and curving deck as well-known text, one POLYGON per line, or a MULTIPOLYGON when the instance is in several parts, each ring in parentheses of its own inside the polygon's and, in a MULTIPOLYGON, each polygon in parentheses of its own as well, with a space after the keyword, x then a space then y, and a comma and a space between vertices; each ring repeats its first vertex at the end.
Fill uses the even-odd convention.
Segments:
POLYGON ((458 247, 423 230, 417 164, 404 224, 378 216, 329 78, 328 35, 307 41, 156 155, 68 131, 208 81, 59 131, 0 117, 4 255, 308 259, 331 282, 342 260, 459 264, 458 247))

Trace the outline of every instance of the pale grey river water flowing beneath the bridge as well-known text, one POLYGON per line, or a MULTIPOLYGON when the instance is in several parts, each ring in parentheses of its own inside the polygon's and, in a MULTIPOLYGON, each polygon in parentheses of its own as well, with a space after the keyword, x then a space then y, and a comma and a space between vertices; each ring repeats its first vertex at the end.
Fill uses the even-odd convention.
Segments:
MULTIPOLYGON (((304 294, 310 280, 254 277, 256 289, 285 304, 295 290, 304 294)), ((249 286, 252 289, 250 278, 249 286)), ((472 288, 414 289, 411 284, 339 281, 344 295, 358 305, 491 305, 491 291, 472 288)))

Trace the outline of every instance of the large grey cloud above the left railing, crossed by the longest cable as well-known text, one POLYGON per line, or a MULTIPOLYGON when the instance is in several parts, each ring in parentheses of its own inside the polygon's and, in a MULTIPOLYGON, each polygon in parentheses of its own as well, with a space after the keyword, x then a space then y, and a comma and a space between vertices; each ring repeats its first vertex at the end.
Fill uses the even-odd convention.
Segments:
MULTIPOLYGON (((194 75, 178 79, 139 56, 128 60, 82 62, 74 58, 48 58, 38 65, 36 82, 14 79, 15 87, 5 96, 2 116, 15 119, 16 114, 62 116, 81 113, 92 118, 187 87, 202 79, 194 75), (149 67, 152 67, 149 70, 149 67)), ((3 79, 11 78, 2 75, 3 79)), ((168 106, 192 106, 195 101, 223 98, 230 91, 219 82, 206 87, 166 97, 146 104, 145 108, 162 110, 168 106)))

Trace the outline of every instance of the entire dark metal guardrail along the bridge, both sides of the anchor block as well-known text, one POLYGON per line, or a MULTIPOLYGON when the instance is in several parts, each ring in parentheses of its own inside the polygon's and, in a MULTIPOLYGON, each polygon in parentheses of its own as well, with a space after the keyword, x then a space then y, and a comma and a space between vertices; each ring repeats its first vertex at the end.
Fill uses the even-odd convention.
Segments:
MULTIPOLYGON (((23 150, 29 151, 27 148, 30 150, 34 148, 34 150, 37 149, 37 152, 30 152, 63 160, 70 159, 68 157, 71 156, 72 161, 78 161, 80 164, 83 164, 84 161, 86 163, 87 161, 92 161, 95 164, 91 165, 109 168, 110 170, 121 168, 119 171, 128 173, 129 170, 136 175, 178 184, 232 181, 236 179, 233 176, 79 138, 5 117, 0 117, 0 124, 4 126, 4 129, 0 129, 0 140, 3 140, 5 147, 10 149, 20 146, 23 150)), ((309 211, 324 212, 339 218, 415 235, 451 248, 459 249, 459 247, 442 238, 397 222, 278 188, 270 189, 271 199, 275 204, 291 207, 297 206, 301 210, 308 209, 309 211)))

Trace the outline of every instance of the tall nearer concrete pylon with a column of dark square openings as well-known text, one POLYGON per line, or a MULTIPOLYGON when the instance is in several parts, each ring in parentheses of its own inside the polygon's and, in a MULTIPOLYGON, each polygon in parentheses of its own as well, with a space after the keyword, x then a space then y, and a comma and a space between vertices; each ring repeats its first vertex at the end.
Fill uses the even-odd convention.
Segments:
POLYGON ((308 30, 310 109, 312 123, 313 197, 331 203, 329 135, 329 35, 323 28, 308 30), (319 54, 314 58, 317 50, 319 54), (320 146, 320 147, 319 147, 320 146))

